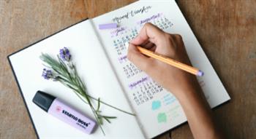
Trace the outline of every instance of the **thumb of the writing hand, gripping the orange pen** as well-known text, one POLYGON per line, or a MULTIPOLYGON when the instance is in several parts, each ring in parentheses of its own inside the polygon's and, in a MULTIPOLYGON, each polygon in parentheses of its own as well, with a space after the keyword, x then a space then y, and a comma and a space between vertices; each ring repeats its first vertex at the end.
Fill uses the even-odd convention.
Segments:
POLYGON ((127 58, 133 64, 135 64, 140 70, 148 71, 150 66, 153 64, 151 58, 143 55, 134 44, 129 43, 127 58))

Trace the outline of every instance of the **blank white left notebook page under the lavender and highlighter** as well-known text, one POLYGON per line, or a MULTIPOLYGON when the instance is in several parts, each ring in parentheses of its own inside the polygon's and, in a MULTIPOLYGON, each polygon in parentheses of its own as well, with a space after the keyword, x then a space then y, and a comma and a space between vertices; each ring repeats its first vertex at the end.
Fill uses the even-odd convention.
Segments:
POLYGON ((91 22, 86 20, 10 56, 12 68, 39 138, 143 138, 135 116, 124 114, 108 106, 101 105, 102 113, 107 116, 117 116, 117 119, 111 120, 111 124, 104 122, 102 126, 106 134, 104 136, 99 127, 91 135, 80 132, 32 103, 37 90, 42 90, 94 119, 89 106, 72 90, 59 82, 45 80, 41 76, 44 68, 39 59, 41 52, 56 56, 63 47, 67 47, 71 52, 72 60, 90 95, 125 111, 132 111, 91 27, 91 22))

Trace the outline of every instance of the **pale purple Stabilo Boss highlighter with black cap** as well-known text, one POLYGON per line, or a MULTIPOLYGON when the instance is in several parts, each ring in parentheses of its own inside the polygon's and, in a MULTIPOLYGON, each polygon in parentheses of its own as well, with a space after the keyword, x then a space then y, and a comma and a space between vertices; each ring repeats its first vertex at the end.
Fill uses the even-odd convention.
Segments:
POLYGON ((66 122, 72 127, 86 132, 87 134, 91 134, 94 127, 96 127, 93 120, 83 116, 83 114, 80 114, 78 111, 75 111, 73 108, 62 103, 58 98, 53 97, 53 95, 37 91, 36 95, 34 95, 33 102, 48 112, 48 114, 55 116, 61 121, 66 122))

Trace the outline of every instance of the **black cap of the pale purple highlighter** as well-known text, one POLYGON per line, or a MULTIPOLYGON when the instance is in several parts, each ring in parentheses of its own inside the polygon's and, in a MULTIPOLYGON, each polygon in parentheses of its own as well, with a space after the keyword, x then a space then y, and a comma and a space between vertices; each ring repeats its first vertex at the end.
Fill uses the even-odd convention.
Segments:
POLYGON ((37 91, 36 95, 34 95, 33 103, 48 112, 48 109, 50 108, 55 98, 56 97, 53 97, 53 95, 49 95, 46 92, 37 91))

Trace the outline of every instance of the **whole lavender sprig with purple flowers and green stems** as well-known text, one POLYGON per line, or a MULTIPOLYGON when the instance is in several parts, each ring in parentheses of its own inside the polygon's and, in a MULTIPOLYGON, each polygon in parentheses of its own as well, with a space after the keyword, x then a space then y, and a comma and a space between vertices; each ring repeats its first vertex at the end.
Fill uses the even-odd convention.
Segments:
POLYGON ((61 84, 64 84, 64 86, 69 87, 71 90, 73 90, 73 92, 75 92, 75 95, 78 95, 78 98, 80 98, 80 100, 83 100, 84 103, 88 104, 104 135, 105 132, 101 126, 103 124, 103 120, 106 120, 110 123, 110 119, 116 119, 116 116, 102 115, 102 111, 100 111, 100 103, 105 104, 106 106, 110 106, 111 108, 115 108, 116 110, 124 112, 126 114, 135 116, 135 114, 111 106, 108 103, 103 102, 99 98, 93 98, 91 97, 91 95, 88 94, 86 86, 80 79, 80 76, 78 76, 75 65, 71 62, 71 55, 69 54, 69 49, 67 49, 66 47, 60 49, 59 55, 57 55, 57 57, 58 60, 50 57, 50 55, 48 54, 42 54, 40 56, 41 60, 47 64, 45 66, 49 68, 43 69, 42 77, 44 79, 52 79, 53 81, 61 82, 61 84), (91 100, 97 101, 97 108, 94 107, 91 100))

